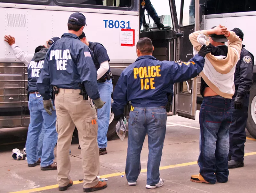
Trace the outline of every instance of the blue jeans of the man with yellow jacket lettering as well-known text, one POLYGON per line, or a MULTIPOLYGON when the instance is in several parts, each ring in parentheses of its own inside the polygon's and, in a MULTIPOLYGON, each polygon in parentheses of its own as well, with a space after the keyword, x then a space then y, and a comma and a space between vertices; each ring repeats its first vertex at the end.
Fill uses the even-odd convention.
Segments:
POLYGON ((156 185, 164 147, 167 113, 163 107, 136 108, 129 114, 128 149, 125 174, 128 182, 136 182, 140 174, 140 152, 148 134, 147 184, 156 185))

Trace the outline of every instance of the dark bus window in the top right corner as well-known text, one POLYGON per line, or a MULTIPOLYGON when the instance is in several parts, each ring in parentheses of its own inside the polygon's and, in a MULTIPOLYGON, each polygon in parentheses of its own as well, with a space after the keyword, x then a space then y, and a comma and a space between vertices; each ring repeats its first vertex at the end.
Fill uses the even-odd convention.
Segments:
POLYGON ((205 15, 256 11, 255 0, 206 0, 205 15))

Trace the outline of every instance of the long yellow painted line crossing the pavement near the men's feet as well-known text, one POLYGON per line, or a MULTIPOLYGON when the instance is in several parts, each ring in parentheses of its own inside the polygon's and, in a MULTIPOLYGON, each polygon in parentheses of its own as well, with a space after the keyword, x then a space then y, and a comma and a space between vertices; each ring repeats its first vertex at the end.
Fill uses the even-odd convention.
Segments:
MULTIPOLYGON (((245 153, 244 156, 248 156, 248 155, 256 155, 256 152, 251 152, 251 153, 245 153)), ((184 167, 184 166, 192 166, 192 165, 196 165, 197 161, 193 161, 193 162, 187 162, 187 163, 182 163, 182 164, 175 164, 175 165, 170 165, 170 166, 162 166, 159 169, 160 170, 164 170, 164 169, 171 169, 171 168, 175 168, 175 167, 184 167)), ((147 172, 147 169, 142 169, 140 170, 140 173, 143 172, 147 172)), ((118 172, 118 173, 112 173, 112 174, 106 174, 106 175, 101 175, 101 178, 110 178, 110 177, 114 177, 114 176, 120 176, 120 175, 124 175, 125 172, 118 172)), ((80 184, 83 183, 80 181, 73 181, 73 184, 80 184)), ((58 184, 54 184, 51 186, 44 186, 44 187, 40 187, 40 188, 34 188, 34 189, 27 189, 27 190, 21 190, 21 191, 17 191, 17 192, 9 192, 9 193, 31 193, 31 192, 38 192, 38 191, 43 191, 43 190, 48 190, 48 189, 54 189, 54 188, 58 188, 58 184)))

